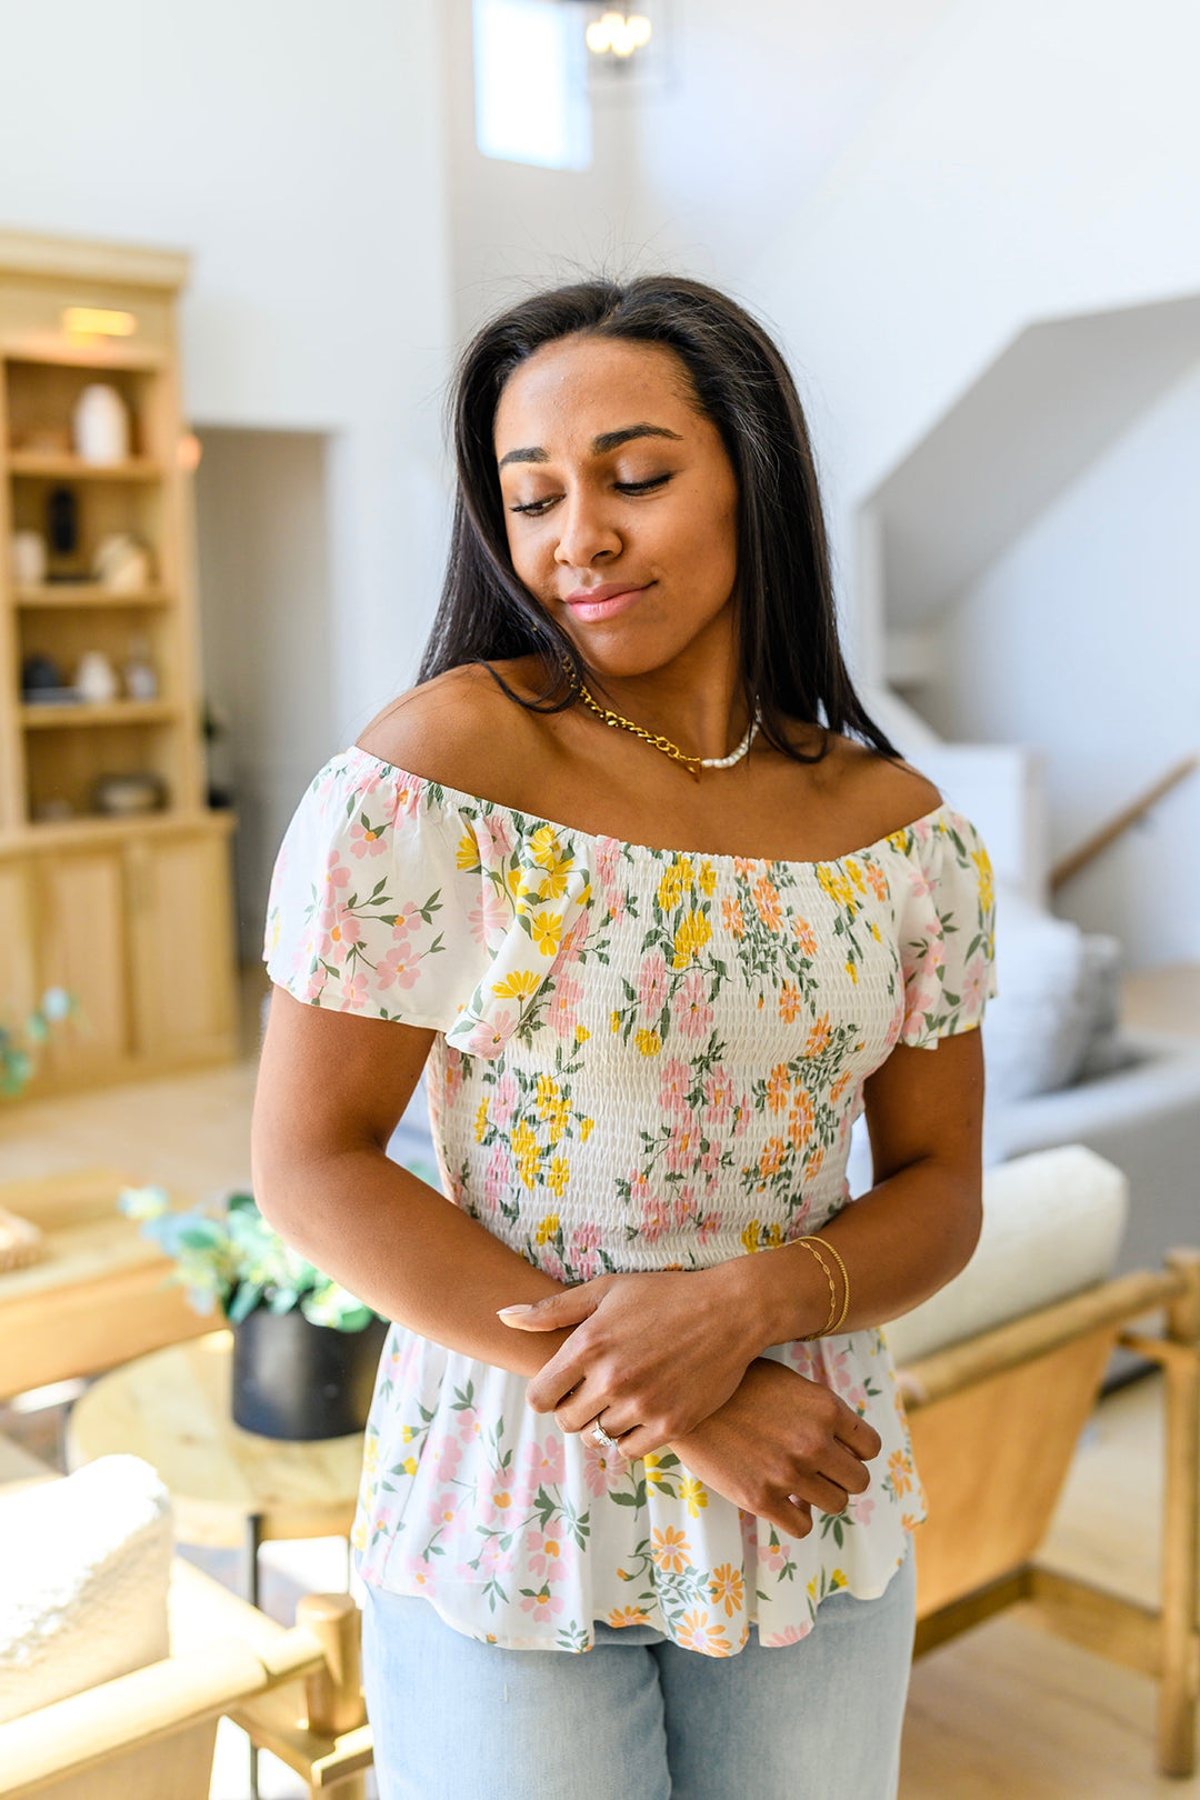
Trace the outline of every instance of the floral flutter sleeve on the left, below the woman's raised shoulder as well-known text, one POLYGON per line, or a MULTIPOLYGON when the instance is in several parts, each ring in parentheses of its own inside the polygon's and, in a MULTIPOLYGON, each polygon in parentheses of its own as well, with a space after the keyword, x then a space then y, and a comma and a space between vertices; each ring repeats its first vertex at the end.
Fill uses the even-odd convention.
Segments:
POLYGON ((302 796, 275 857, 263 958, 313 1006, 443 1031, 495 1058, 581 954, 590 871, 552 826, 356 745, 302 796))

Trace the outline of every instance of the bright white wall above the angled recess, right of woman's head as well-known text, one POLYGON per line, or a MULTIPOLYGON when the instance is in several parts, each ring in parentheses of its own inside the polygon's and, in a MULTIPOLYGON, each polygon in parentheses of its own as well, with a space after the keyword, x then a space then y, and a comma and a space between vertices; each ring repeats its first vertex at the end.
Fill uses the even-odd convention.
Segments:
POLYGON ((781 216, 745 292, 819 396, 851 587, 862 499, 1025 324, 1200 288, 1198 65, 1191 0, 959 0, 781 216))

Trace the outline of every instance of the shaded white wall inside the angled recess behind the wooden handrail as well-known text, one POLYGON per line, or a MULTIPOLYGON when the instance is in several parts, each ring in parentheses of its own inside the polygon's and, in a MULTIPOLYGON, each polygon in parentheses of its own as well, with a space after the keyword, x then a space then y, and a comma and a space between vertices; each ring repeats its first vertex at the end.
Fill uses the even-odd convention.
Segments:
MULTIPOLYGON (((1200 751, 1200 364, 943 617, 952 738, 1045 752, 1052 857, 1200 751)), ((1056 896, 1130 967, 1200 961, 1200 774, 1056 896)))

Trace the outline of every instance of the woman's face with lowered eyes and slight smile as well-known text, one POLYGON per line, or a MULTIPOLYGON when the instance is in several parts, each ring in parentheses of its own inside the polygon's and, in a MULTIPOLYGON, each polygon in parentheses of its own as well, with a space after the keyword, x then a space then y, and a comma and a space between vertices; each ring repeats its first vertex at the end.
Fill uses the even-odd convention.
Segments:
POLYGON ((543 346, 500 394, 495 448, 513 567, 594 670, 732 653, 738 484, 675 351, 543 346))

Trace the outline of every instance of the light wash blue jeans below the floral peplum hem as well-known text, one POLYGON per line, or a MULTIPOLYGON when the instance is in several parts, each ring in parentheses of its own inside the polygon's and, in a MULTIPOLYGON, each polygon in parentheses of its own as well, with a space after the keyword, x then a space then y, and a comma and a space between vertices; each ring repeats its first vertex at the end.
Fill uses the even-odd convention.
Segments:
POLYGON ((912 1550, 878 1600, 730 1658, 604 1624, 578 1656, 502 1651, 367 1588, 380 1800, 894 1800, 914 1618, 912 1550))

